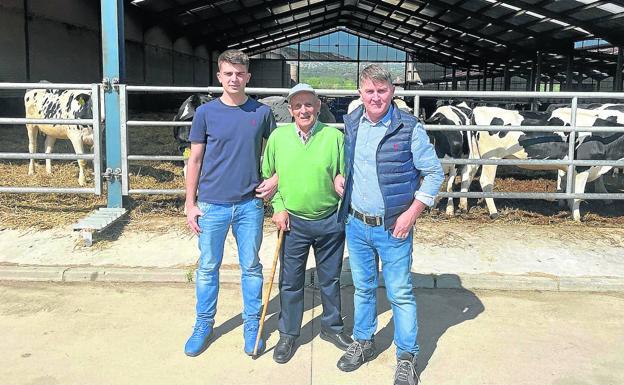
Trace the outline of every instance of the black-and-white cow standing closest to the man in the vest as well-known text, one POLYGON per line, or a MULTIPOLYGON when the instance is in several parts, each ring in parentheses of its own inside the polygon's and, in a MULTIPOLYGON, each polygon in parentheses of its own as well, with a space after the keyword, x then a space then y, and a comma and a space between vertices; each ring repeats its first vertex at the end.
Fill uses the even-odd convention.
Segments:
MULTIPOLYGON (((458 105, 448 105, 438 107, 434 113, 425 120, 426 125, 457 125, 465 126, 469 125, 472 118, 472 109, 468 107, 465 102, 458 105)), ((466 131, 435 131, 430 127, 427 129, 427 135, 429 140, 433 144, 436 150, 438 158, 466 158, 469 154, 468 148, 468 134, 466 131)), ((453 185, 455 184, 455 177, 457 176, 457 166, 454 164, 443 165, 444 174, 448 175, 446 181, 446 192, 453 191, 453 185)), ((462 185, 467 182, 464 181, 468 178, 467 167, 462 167, 462 185)), ((470 183, 467 183, 468 185, 470 183)), ((436 202, 437 203, 437 202, 436 202)), ((468 210, 467 201, 466 206, 461 207, 464 211, 468 210)), ((454 215, 455 207, 453 198, 448 198, 446 204, 446 214, 454 215)))

